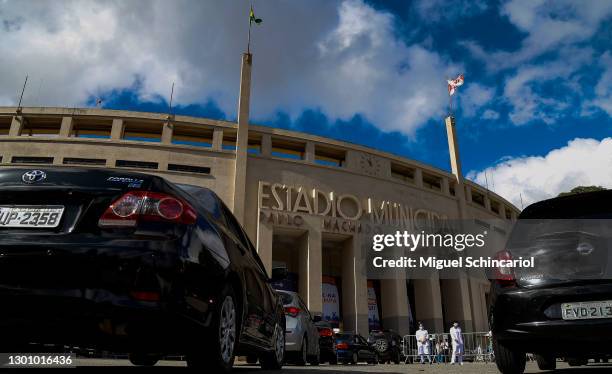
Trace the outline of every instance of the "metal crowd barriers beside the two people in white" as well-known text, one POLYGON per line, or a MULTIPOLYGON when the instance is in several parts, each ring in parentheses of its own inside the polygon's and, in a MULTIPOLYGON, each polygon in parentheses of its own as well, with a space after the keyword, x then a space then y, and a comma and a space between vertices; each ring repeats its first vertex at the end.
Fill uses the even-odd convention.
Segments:
MULTIPOLYGON (((493 362, 493 341, 488 332, 462 333, 463 337, 463 361, 471 362, 493 362)), ((421 357, 417 347, 416 335, 405 335, 402 338, 402 352, 405 363, 420 363, 421 357)), ((448 333, 429 334, 429 359, 433 363, 449 363, 453 347, 448 333)), ((427 356, 425 362, 429 363, 427 356)))

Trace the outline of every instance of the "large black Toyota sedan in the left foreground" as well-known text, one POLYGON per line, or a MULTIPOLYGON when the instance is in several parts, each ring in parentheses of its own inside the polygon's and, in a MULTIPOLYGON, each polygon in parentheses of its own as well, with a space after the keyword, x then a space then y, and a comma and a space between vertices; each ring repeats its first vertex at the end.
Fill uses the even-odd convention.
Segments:
POLYGON ((105 169, 0 170, 0 352, 29 343, 279 369, 285 315, 210 190, 105 169))

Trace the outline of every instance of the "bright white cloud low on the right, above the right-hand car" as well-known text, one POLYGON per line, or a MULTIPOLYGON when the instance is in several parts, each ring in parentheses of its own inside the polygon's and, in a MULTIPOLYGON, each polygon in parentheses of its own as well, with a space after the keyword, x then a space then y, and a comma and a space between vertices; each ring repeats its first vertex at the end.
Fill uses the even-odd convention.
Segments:
POLYGON ((495 191, 518 207, 521 195, 527 206, 576 186, 612 188, 612 138, 576 138, 545 156, 508 157, 467 177, 484 185, 485 173, 495 191))

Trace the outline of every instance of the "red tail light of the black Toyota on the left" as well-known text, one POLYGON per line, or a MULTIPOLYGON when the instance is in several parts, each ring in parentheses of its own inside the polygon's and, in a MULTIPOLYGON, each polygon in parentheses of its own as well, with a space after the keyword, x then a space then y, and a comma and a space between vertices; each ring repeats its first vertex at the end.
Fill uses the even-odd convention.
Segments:
POLYGON ((135 227, 138 221, 167 221, 193 224, 195 210, 186 202, 162 193, 130 191, 115 200, 104 212, 102 228, 135 227))

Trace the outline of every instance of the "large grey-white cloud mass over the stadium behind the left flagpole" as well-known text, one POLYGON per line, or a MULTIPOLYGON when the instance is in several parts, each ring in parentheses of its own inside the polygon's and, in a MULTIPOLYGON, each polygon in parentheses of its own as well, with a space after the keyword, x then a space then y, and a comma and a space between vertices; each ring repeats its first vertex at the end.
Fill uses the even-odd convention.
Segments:
MULTIPOLYGON (((143 100, 213 99, 235 116, 248 4, 237 1, 11 1, 1 8, 0 103, 83 105, 133 87, 143 100), (10 6, 8 6, 10 5, 10 6)), ((361 0, 260 1, 252 33, 255 118, 316 107, 332 118, 365 115, 411 134, 446 106, 445 75, 459 67, 406 45, 393 16, 361 0), (439 84, 437 84, 439 82, 439 84)))

